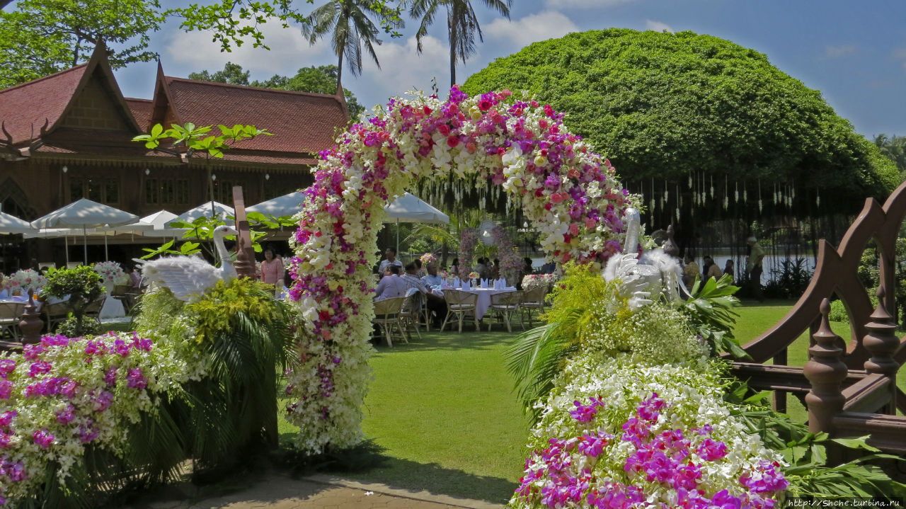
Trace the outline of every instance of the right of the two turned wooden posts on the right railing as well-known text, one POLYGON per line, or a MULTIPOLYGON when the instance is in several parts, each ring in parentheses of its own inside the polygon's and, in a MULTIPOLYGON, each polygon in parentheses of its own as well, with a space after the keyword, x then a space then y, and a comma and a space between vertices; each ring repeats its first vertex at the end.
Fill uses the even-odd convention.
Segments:
POLYGON ((862 340, 862 344, 872 357, 863 364, 865 370, 869 373, 880 374, 891 380, 891 401, 882 408, 883 413, 895 415, 896 396, 897 396, 897 370, 900 364, 893 359, 893 352, 900 346, 900 339, 896 336, 897 326, 894 324, 891 314, 887 312, 884 301, 884 285, 878 286, 878 305, 874 312, 869 316, 869 322, 865 324, 868 331, 862 340))

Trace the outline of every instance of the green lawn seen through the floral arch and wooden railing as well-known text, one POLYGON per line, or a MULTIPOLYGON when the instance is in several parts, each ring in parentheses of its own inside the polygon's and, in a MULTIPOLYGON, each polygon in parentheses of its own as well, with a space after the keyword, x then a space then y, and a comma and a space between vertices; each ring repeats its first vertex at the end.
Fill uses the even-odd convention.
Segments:
MULTIPOLYGON (((781 320, 792 301, 744 302, 735 330, 745 343, 781 320)), ((849 328, 832 323, 849 338, 849 328)), ((529 422, 516 403, 502 352, 506 332, 430 332, 396 348, 379 347, 362 428, 380 452, 380 465, 340 475, 366 482, 505 503, 521 475, 529 422)), ((788 351, 791 365, 807 359, 808 338, 788 351)), ((906 370, 900 373, 906 385, 906 370)), ((790 396, 792 418, 805 408, 790 396)), ((282 419, 281 419, 282 420, 282 419)), ((281 423, 286 437, 294 428, 281 423)))

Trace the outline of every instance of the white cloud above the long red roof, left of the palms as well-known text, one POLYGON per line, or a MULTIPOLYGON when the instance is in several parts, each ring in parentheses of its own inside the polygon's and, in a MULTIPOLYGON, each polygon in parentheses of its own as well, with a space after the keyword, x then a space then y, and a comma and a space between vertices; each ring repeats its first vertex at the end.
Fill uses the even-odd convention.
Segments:
MULTIPOLYGON (((226 62, 238 63, 252 78, 270 78, 273 74, 293 75, 300 67, 322 62, 329 53, 326 44, 309 45, 298 28, 283 28, 271 22, 261 26, 265 34, 264 48, 253 48, 252 42, 233 47, 230 53, 220 51, 220 43, 211 40, 208 32, 182 32, 174 34, 164 50, 164 70, 171 62, 194 71, 220 71, 226 62)), ((329 59, 328 59, 329 60, 329 59)), ((191 72, 191 71, 190 71, 191 72)))

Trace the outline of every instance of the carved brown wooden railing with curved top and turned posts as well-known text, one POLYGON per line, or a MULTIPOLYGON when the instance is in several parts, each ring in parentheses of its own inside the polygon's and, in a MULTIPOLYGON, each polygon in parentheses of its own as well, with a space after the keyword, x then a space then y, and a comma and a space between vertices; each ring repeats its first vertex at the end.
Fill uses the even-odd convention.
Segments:
POLYGON ((906 418, 896 410, 906 413, 906 396, 897 388, 896 376, 906 360, 906 339, 895 334, 894 255, 904 216, 906 183, 883 206, 867 199, 839 248, 821 240, 812 282, 793 309, 743 345, 751 360, 733 364, 737 377, 753 389, 774 391, 776 409, 786 411, 787 393, 803 399, 812 431, 836 437, 871 434, 873 445, 899 453, 906 452, 906 418), (872 239, 881 268, 873 311, 857 274, 872 239), (849 344, 831 331, 827 320, 833 295, 849 316, 849 344), (787 366, 787 348, 805 331, 811 334, 808 362, 803 368, 787 366), (769 360, 773 364, 766 364, 769 360))

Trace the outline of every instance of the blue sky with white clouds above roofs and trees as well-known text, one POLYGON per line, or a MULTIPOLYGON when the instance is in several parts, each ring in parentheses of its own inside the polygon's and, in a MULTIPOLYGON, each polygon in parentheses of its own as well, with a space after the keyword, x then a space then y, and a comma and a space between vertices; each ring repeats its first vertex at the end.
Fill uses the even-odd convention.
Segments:
MULTIPOLYGON (((303 0, 297 5, 308 8, 303 0)), ((323 0, 315 0, 321 5, 323 0)), ((184 5, 163 2, 165 7, 184 5)), ((458 82, 496 58, 516 53, 529 43, 571 32, 610 27, 635 30, 691 31, 709 34, 765 53, 781 71, 821 91, 837 114, 855 130, 906 135, 906 2, 903 0, 514 0, 510 19, 472 0, 484 43, 457 69, 458 82)), ((377 47, 381 68, 364 63, 360 76, 343 71, 343 86, 371 108, 412 89, 431 90, 434 78, 441 91, 449 83, 446 16, 438 20, 417 53, 416 21, 407 19, 399 38, 382 35, 377 47)), ((169 21, 151 35, 164 72, 187 77, 189 72, 222 70, 234 62, 253 80, 274 74, 294 75, 301 67, 336 63, 329 43, 310 45, 297 28, 265 24, 270 51, 246 43, 221 53, 206 32, 186 33, 169 21)), ((116 72, 127 97, 150 98, 156 63, 136 63, 116 72)), ((442 96, 445 94, 441 94, 442 96)))

